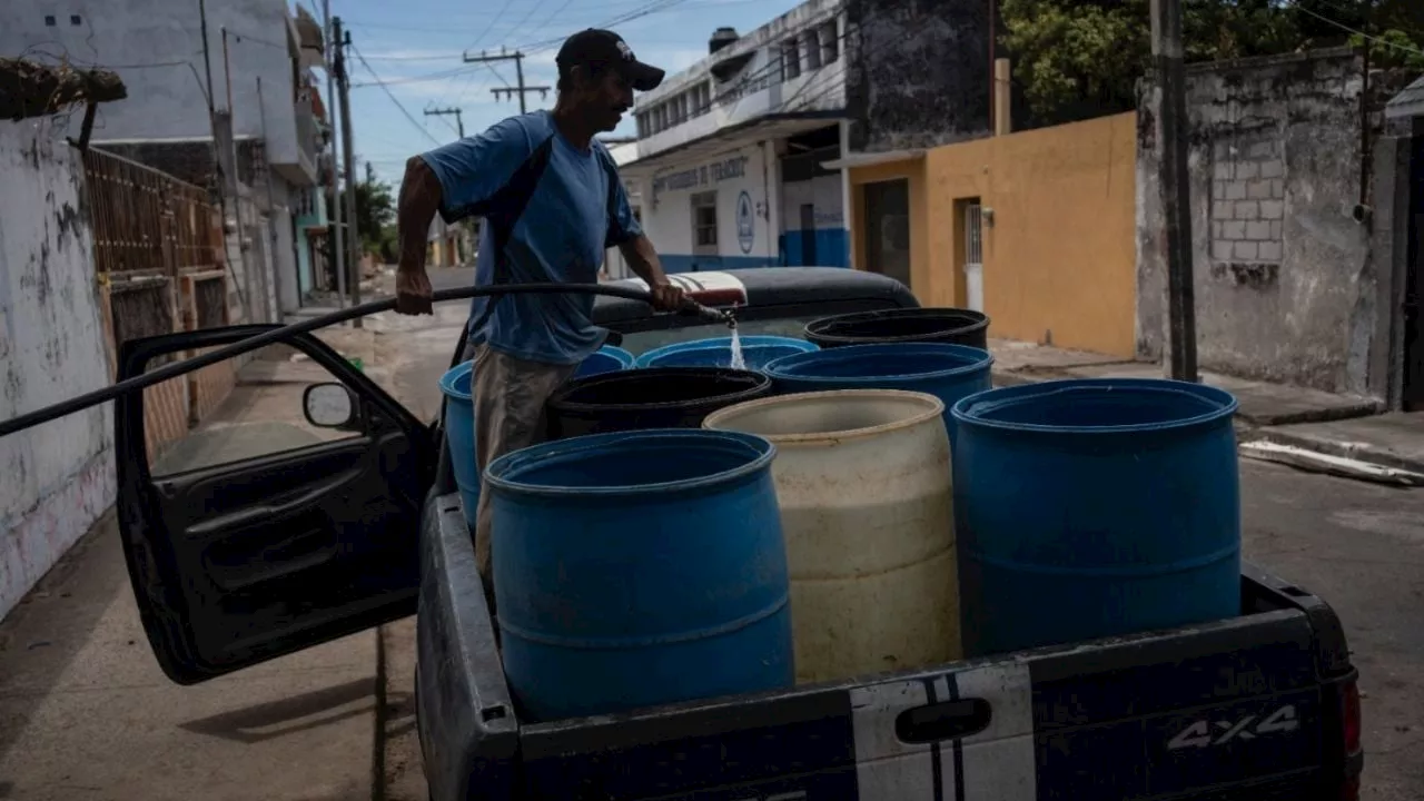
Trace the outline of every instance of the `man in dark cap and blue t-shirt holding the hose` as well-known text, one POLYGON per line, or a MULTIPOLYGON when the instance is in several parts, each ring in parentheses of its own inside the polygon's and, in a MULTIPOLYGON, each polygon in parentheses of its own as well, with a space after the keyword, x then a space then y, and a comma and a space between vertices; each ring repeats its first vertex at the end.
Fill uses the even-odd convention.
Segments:
MULTIPOLYGON (((618 170, 602 143, 632 93, 662 83, 624 40, 585 30, 560 48, 558 101, 553 111, 511 117, 486 133, 406 162, 397 224, 400 264, 396 311, 431 314, 424 269, 426 232, 436 211, 447 221, 484 215, 476 282, 594 284, 608 247, 648 282, 654 305, 676 309, 682 291, 668 282, 652 242, 628 207, 618 170)), ((607 336, 592 325, 585 294, 476 298, 470 316, 474 359, 476 459, 527 448, 544 433, 544 403, 607 336)), ((476 513, 476 563, 490 590, 490 495, 476 513)))

